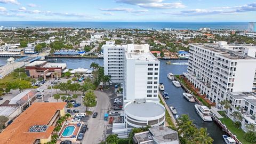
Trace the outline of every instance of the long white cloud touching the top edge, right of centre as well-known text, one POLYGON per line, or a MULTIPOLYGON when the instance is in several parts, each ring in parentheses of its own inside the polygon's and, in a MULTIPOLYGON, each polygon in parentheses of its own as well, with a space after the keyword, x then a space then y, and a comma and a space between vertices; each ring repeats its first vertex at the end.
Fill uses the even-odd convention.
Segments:
POLYGON ((138 5, 148 9, 178 9, 185 8, 182 3, 163 3, 163 0, 115 0, 118 3, 138 5))

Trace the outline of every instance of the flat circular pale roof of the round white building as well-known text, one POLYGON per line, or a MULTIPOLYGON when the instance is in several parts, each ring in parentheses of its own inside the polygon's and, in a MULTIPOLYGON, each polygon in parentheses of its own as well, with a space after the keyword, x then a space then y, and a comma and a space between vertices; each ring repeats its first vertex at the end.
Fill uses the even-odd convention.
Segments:
POLYGON ((154 102, 130 103, 125 110, 138 117, 156 117, 165 112, 164 107, 154 102))

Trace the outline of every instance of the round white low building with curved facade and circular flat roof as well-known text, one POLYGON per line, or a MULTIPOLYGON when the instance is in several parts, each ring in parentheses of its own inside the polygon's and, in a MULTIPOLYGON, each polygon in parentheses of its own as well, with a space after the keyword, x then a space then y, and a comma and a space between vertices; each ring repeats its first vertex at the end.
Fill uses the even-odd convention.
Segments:
POLYGON ((165 108, 158 102, 133 102, 124 106, 127 127, 159 126, 165 122, 165 108))

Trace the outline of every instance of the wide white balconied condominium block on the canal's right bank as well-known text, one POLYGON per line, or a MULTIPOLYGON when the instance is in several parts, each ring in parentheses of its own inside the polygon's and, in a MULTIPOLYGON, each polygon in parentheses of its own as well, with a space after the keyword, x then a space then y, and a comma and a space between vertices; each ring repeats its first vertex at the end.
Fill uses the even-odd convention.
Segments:
POLYGON ((189 48, 187 78, 220 108, 218 103, 227 98, 227 92, 252 92, 256 88, 256 59, 233 48, 225 49, 228 45, 190 44, 189 48))

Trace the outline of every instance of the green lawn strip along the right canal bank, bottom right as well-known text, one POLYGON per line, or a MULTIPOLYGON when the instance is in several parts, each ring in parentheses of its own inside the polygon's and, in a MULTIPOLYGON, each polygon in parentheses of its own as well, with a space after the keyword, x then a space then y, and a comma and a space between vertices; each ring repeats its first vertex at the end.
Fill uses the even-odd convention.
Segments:
MULTIPOLYGON (((221 115, 222 113, 225 113, 224 111, 218 111, 221 115)), ((234 125, 234 122, 230 119, 230 118, 220 118, 220 121, 222 122, 222 124, 225 124, 228 128, 228 130, 235 134, 237 139, 240 140, 243 144, 253 144, 251 142, 247 142, 245 139, 244 139, 244 134, 245 132, 242 130, 242 129, 237 129, 234 125)))

